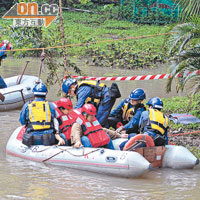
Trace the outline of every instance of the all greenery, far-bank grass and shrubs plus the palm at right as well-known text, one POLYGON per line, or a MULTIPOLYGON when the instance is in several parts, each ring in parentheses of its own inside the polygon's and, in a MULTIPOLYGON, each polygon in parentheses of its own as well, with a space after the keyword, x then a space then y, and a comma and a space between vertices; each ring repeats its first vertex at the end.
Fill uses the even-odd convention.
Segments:
MULTIPOLYGON (((175 24, 167 26, 141 25, 119 20, 119 7, 117 6, 94 5, 88 0, 81 1, 84 5, 73 0, 66 2, 74 8, 92 10, 90 13, 70 11, 63 13, 65 40, 68 45, 71 45, 66 50, 67 68, 72 68, 76 73, 82 74, 83 72, 77 67, 76 63, 72 62, 82 58, 86 60, 87 64, 95 66, 128 69, 153 67, 158 62, 167 61, 171 56, 174 62, 171 66, 172 78, 168 89, 173 78, 178 73, 182 73, 183 76, 179 78, 177 90, 183 90, 187 81, 192 80, 194 84, 191 85, 194 88, 194 93, 199 91, 199 75, 190 78, 185 76, 188 71, 200 69, 199 17, 190 18, 187 24, 177 26, 175 24), (122 38, 128 37, 166 33, 170 30, 176 32, 176 34, 169 37, 156 36, 122 40, 122 38), (165 48, 163 48, 164 43, 165 48)), ((196 0, 180 1, 183 13, 186 13, 185 16, 199 14, 198 2, 196 0), (197 5, 196 10, 194 5, 197 5)), ((68 6, 68 4, 66 3, 64 6, 68 6)), ((4 11, 5 9, 1 8, 0 12, 4 11)), ((8 39, 13 44, 14 49, 46 48, 62 45, 59 18, 48 28, 15 28, 12 26, 12 20, 0 19, 0 31, 3 35, 2 39, 8 39)), ((60 62, 61 59, 57 59, 62 57, 63 50, 61 48, 48 49, 45 50, 45 53, 47 54, 46 63, 49 69, 47 84, 52 85, 56 82, 55 73, 62 71, 64 74, 65 72, 63 62, 60 62)), ((41 51, 14 52, 16 57, 40 56, 40 54, 41 51)), ((190 112, 200 118, 199 93, 193 99, 190 97, 174 97, 163 101, 164 112, 167 114, 190 112)), ((178 129, 183 131, 200 129, 200 124, 183 126, 170 122, 169 126, 171 132, 178 129)), ((198 149, 194 148, 192 151, 200 157, 198 149)))

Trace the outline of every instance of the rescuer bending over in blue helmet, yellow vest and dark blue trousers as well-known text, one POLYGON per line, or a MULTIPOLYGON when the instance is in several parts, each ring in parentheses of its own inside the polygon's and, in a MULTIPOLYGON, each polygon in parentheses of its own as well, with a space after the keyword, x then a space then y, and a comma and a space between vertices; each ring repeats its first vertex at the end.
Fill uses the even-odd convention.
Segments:
POLYGON ((98 81, 77 82, 72 78, 67 78, 63 82, 62 90, 67 95, 77 97, 75 109, 81 108, 85 103, 95 105, 98 109, 96 117, 101 125, 105 124, 116 98, 121 96, 115 83, 109 88, 98 81))

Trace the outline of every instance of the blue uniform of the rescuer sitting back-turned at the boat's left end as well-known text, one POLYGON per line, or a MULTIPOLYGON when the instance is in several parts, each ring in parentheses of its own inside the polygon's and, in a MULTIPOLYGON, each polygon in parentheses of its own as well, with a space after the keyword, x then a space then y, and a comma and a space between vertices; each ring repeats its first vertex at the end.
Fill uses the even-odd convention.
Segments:
MULTIPOLYGON (((44 98, 40 97, 40 98, 36 98, 34 99, 34 101, 45 101, 44 98)), ((28 104, 30 102, 27 102, 26 104, 24 104, 23 108, 22 108, 22 111, 20 113, 20 123, 22 125, 27 125, 30 120, 29 120, 29 109, 28 109, 28 104)), ((50 109, 50 112, 51 112, 51 122, 53 124, 53 118, 55 117, 55 107, 52 103, 48 102, 49 103, 49 109, 50 109)), ((42 135, 48 135, 50 134, 51 135, 51 141, 53 141, 52 143, 54 143, 55 141, 55 136, 54 136, 54 129, 50 128, 50 129, 46 129, 46 130, 31 130, 31 128, 27 128, 27 131, 26 132, 31 132, 32 135, 36 135, 36 136, 42 136, 42 135)), ((34 144, 35 145, 41 145, 43 144, 43 142, 41 141, 42 137, 38 137, 36 139, 34 139, 34 144)))

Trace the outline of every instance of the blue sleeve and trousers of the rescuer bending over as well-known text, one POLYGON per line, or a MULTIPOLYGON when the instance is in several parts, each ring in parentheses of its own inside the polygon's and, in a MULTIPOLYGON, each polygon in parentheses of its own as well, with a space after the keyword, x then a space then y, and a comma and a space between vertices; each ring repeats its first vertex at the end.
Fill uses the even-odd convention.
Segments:
MULTIPOLYGON (((75 105, 75 108, 81 108, 84 105, 87 97, 90 97, 90 95, 93 92, 94 88, 92 88, 91 86, 84 85, 79 87, 76 91, 77 103, 75 105)), ((103 125, 105 124, 105 121, 108 118, 110 110, 115 103, 115 98, 111 98, 108 87, 105 87, 101 92, 103 98, 98 106, 96 118, 99 121, 99 123, 103 125)))

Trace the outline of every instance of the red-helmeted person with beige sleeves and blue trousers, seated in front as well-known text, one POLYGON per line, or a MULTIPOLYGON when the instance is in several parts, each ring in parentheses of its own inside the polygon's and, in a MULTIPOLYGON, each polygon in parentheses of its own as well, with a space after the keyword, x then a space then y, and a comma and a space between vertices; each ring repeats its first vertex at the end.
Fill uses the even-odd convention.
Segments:
POLYGON ((95 117, 96 114, 96 107, 92 104, 84 104, 81 109, 71 112, 76 119, 71 130, 71 143, 75 148, 84 146, 114 149, 111 138, 127 137, 126 134, 120 135, 115 131, 102 128, 95 117))

